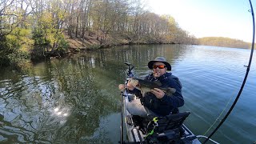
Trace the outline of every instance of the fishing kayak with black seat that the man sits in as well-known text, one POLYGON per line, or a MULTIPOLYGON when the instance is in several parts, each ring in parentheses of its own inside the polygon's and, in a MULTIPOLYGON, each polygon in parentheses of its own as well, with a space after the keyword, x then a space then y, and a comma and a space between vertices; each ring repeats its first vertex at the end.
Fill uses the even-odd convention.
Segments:
MULTIPOLYGON (((128 65, 128 64, 126 64, 128 65)), ((133 77, 130 65, 128 65, 128 73, 125 82, 133 77)), ((126 105, 134 99, 138 99, 135 94, 130 94, 127 90, 121 92, 122 113, 120 126, 120 142, 119 143, 185 143, 185 144, 201 144, 198 138, 207 138, 202 135, 195 135, 183 123, 190 115, 189 111, 180 112, 178 114, 170 114, 165 117, 148 115, 142 118, 132 115, 126 110, 126 105), (124 128, 125 129, 124 129, 124 128), (126 130, 126 142, 123 138, 123 131, 126 130)), ((218 144, 212 139, 208 139, 218 144)))

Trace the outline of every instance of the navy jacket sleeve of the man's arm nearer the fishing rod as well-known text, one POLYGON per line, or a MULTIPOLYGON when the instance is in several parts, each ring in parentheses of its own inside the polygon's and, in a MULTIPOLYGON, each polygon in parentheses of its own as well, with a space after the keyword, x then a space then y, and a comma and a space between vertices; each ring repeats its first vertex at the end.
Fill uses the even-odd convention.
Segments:
MULTIPOLYGON (((176 89, 173 95, 165 94, 160 100, 164 103, 168 103, 170 106, 181 107, 184 105, 184 99, 182 96, 182 84, 179 82, 178 78, 167 78, 164 80, 168 87, 176 89)), ((162 82, 164 83, 164 82, 162 82)))

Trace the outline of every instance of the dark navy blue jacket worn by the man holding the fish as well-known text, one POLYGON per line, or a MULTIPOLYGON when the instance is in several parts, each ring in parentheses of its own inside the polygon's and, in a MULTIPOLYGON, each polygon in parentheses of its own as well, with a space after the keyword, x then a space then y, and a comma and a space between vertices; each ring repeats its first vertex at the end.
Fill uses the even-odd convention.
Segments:
POLYGON ((141 98, 142 105, 146 106, 159 116, 166 116, 171 113, 178 113, 178 107, 184 105, 182 97, 182 84, 177 77, 171 73, 163 74, 159 78, 154 78, 153 74, 146 76, 145 80, 150 82, 159 81, 162 87, 172 87, 176 89, 173 95, 165 94, 162 98, 156 98, 152 93, 146 93, 145 97, 141 98))

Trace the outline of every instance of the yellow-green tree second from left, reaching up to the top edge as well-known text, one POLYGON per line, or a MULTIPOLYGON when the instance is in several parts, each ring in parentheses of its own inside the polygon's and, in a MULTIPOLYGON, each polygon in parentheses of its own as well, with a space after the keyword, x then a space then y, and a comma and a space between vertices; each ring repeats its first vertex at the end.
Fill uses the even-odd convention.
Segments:
POLYGON ((68 14, 63 7, 61 0, 54 1, 34 1, 34 41, 36 51, 51 52, 54 54, 56 50, 62 48, 62 26, 68 14), (58 48, 58 49, 57 49, 58 48))

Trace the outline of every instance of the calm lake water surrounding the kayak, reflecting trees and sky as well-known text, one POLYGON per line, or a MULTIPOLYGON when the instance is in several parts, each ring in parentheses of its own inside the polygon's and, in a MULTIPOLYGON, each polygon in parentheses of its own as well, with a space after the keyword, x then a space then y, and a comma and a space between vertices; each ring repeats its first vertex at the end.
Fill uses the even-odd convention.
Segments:
MULTIPOLYGON (((250 50, 214 46, 118 46, 34 64, 20 73, 0 70, 0 142, 118 143, 124 62, 135 74, 150 73, 147 62, 162 55, 180 78, 191 112, 186 126, 205 134, 234 102, 250 50), (226 109, 225 109, 226 108, 226 109), (225 109, 225 110, 224 110, 225 109), (224 110, 224 111, 223 111, 224 110)), ((246 86, 230 117, 214 134, 221 143, 256 141, 255 58, 246 86)), ((218 125, 219 120, 209 135, 218 125)))

